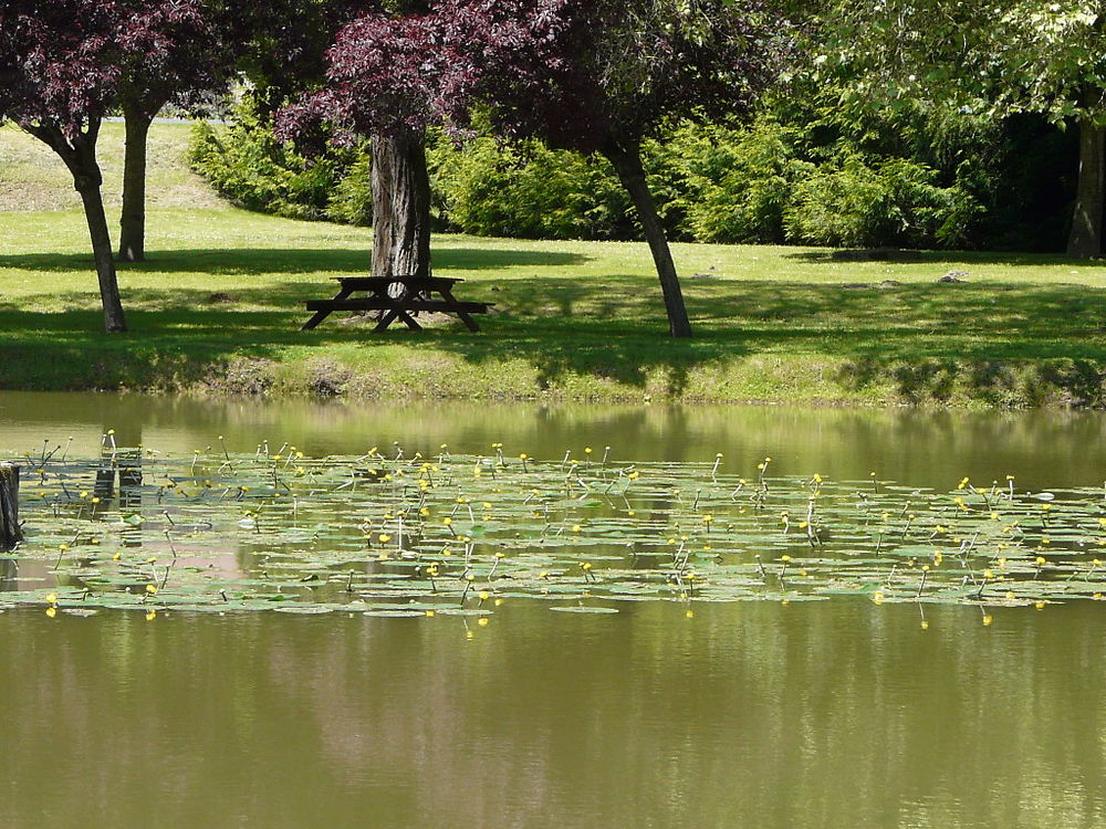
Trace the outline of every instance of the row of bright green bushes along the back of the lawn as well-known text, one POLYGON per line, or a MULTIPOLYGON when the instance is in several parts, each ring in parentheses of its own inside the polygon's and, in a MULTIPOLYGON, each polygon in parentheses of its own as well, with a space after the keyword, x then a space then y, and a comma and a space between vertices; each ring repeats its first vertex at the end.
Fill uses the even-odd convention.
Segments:
MULTIPOLYGON (((771 101, 741 127, 684 126, 646 141, 669 235, 720 243, 1057 249, 1072 154, 1041 116, 1001 126, 904 106, 876 117, 839 91, 771 101), (1035 118, 1035 120, 1034 120, 1035 118), (1044 217, 1044 218, 1042 218, 1044 217)), ((598 156, 490 137, 428 138, 439 229, 521 239, 639 240, 629 198, 598 156)), ((367 147, 309 161, 249 107, 200 125, 191 165, 237 204, 298 219, 372 222, 367 147)))

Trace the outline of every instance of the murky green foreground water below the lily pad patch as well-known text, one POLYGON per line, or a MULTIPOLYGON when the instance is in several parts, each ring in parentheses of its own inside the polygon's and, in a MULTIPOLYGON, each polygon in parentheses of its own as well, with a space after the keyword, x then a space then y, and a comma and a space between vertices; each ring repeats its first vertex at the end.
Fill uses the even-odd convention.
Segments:
POLYGON ((446 618, 10 613, 0 821, 1096 826, 1096 617, 518 604, 467 640, 446 618))

